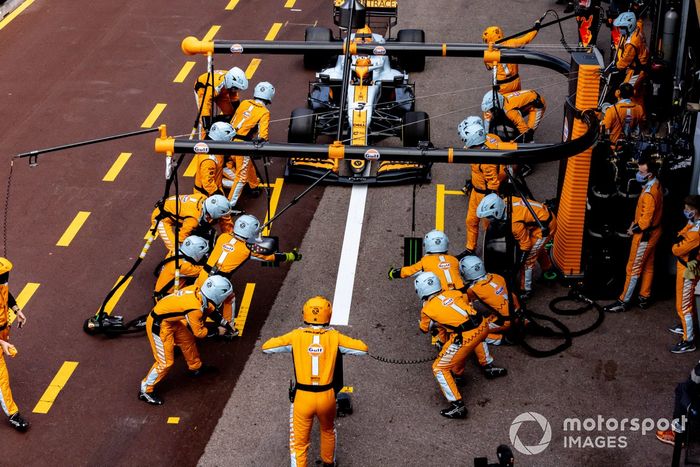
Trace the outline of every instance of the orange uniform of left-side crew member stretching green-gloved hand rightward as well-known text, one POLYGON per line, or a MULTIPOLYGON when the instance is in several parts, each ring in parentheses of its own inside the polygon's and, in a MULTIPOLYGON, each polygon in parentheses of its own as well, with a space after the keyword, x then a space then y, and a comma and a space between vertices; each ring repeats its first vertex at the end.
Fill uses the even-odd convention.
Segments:
MULTIPOLYGON (((211 274, 231 277, 236 270, 248 259, 253 258, 258 261, 274 261, 275 255, 260 255, 248 248, 245 241, 236 238, 230 233, 223 233, 216 239, 214 249, 209 255, 207 265, 199 272, 199 277, 195 281, 197 287, 201 287, 204 281, 211 274)), ((235 295, 224 302, 222 315, 226 321, 232 321, 233 310, 235 309, 235 295)))

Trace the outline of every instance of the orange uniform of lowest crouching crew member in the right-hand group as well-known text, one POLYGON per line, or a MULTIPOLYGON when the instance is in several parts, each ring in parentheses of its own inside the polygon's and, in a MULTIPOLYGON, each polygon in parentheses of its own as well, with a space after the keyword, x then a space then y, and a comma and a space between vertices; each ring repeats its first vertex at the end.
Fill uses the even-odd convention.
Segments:
POLYGON ((454 376, 464 373, 466 358, 486 338, 488 325, 459 290, 434 295, 423 304, 420 330, 428 332, 431 321, 449 336, 433 362, 433 374, 448 401, 461 400, 454 376))

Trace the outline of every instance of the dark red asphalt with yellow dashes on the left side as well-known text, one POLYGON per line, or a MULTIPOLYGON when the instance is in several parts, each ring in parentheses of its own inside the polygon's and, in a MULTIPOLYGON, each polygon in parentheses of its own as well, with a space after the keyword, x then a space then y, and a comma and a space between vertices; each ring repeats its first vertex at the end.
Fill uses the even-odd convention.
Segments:
MULTIPOLYGON (((170 134, 189 134, 195 116, 192 83, 206 68, 203 57, 180 51, 185 36, 201 38, 220 25, 217 37, 241 37, 246 24, 245 38, 263 39, 280 22, 286 26, 279 37, 303 37, 305 26, 292 23, 320 16, 313 10, 293 14, 283 3, 241 2, 225 11, 228 3, 35 2, 0 32, 3 181, 12 154, 138 130, 156 103, 167 103, 157 123, 167 123, 170 134), (186 60, 196 61, 195 69, 184 83, 173 83, 186 60)), ((250 91, 259 81, 274 82, 273 119, 284 119, 303 103, 303 94, 295 91, 306 89, 310 74, 293 67, 294 58, 260 58, 250 91)), ((245 69, 250 59, 215 57, 215 64, 245 69)), ((286 121, 273 123, 272 138, 286 139, 286 127, 286 121)), ((82 323, 130 268, 163 194, 163 159, 153 152, 151 136, 53 153, 33 169, 26 160, 14 166, 10 286, 15 295, 27 282, 40 286, 26 307, 27 328, 13 330, 20 356, 9 362, 15 398, 33 426, 24 435, 1 427, 3 465, 195 464, 289 269, 249 264, 234 281, 239 302, 246 283, 256 283, 256 289, 243 337, 201 346, 203 359, 218 366, 218 377, 190 380, 178 362, 161 388, 165 406, 138 401, 139 381, 152 363, 147 341, 90 337, 82 323), (114 182, 101 181, 121 152, 133 155, 114 182), (55 246, 78 211, 91 215, 70 246, 55 246), (49 413, 32 413, 64 361, 79 362, 78 367, 49 413), (179 423, 168 424, 169 417, 179 417, 179 423)), ((271 181, 282 176, 282 168, 280 161, 274 163, 271 181)), ((182 179, 182 192, 191 184, 182 179)), ((285 183, 279 209, 303 188, 285 183)), ((322 192, 317 189, 275 222, 272 234, 280 234, 282 248, 300 243, 322 192)), ((263 197, 245 200, 243 207, 260 218, 266 212, 263 197)), ((130 319, 150 308, 152 270, 164 254, 160 243, 152 250, 115 314, 130 319)))

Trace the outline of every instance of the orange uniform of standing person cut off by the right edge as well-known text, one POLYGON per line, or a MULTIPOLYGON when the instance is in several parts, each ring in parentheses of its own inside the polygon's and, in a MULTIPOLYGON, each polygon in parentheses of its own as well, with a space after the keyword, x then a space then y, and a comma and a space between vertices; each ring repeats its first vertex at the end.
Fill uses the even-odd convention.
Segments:
POLYGON ((695 338, 693 319, 697 314, 695 308, 695 286, 700 277, 686 279, 683 277, 688 261, 697 259, 700 250, 700 221, 690 221, 678 232, 678 238, 671 252, 678 260, 676 264, 676 312, 683 325, 683 340, 695 338))

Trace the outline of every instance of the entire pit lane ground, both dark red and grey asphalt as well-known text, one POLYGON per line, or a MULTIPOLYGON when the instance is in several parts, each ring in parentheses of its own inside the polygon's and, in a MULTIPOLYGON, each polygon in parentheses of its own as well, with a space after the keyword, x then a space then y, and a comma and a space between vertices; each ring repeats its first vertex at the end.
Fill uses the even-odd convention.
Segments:
MULTIPOLYGON (((202 37, 211 24, 222 24, 217 37, 260 39, 268 23, 291 18, 278 37, 300 39, 303 26, 291 23, 318 19, 331 24, 330 6, 317 2, 297 2, 296 8, 302 11, 294 15, 282 9, 282 2, 266 4, 263 13, 256 11, 259 4, 244 2, 225 13, 225 4, 222 1, 214 8, 210 2, 130 2, 126 7, 36 2, 0 32, 4 45, 0 84, 8 90, 7 105, 0 109, 3 152, 9 155, 136 129, 156 102, 168 103, 161 120, 174 125, 178 134, 187 133, 193 107, 188 83, 194 72, 185 84, 171 83, 186 59, 179 52, 182 37, 202 37)), ((436 1, 428 14, 421 2, 405 1, 399 26, 425 29, 428 41, 478 42, 485 25, 498 22, 506 32, 515 31, 529 26, 550 6, 548 1, 509 2, 502 11, 494 11, 492 2, 436 1)), ((573 42, 572 25, 566 27, 573 42)), ((558 43, 554 28, 540 36, 539 43, 558 43)), ((300 62, 293 57, 263 57, 251 80, 254 84, 269 79, 277 85, 273 119, 303 105, 311 74, 302 71, 300 62)), ((217 60, 221 66, 224 63, 244 67, 248 62, 245 57, 217 60)), ((482 67, 476 59, 429 59, 426 71, 413 76, 420 95, 478 88, 419 101, 418 109, 427 110, 433 118, 437 145, 457 145, 457 123, 465 115, 478 113, 488 82, 482 67), (438 118, 450 111, 455 112, 438 118)), ((203 69, 203 60, 197 58, 196 70, 203 69)), ((531 67, 523 67, 522 75, 524 88, 551 85, 544 90, 548 117, 538 139, 555 141, 566 93, 563 78, 531 67)), ((284 140, 285 129, 286 124, 273 126, 272 137, 284 140)), ((273 233, 284 235, 283 247, 296 245, 308 227, 302 243, 304 260, 286 276, 264 326, 266 310, 286 268, 261 271, 251 265, 236 282, 239 299, 245 282, 258 283, 242 342, 200 346, 205 359, 217 364, 222 374, 190 381, 178 361, 162 383, 166 405, 148 407, 135 397, 152 358, 143 339, 92 338, 80 329, 143 244, 152 204, 162 194, 162 159, 151 148, 152 140, 140 137, 45 156, 33 172, 23 164, 15 166, 9 213, 8 248, 16 267, 11 287, 17 292, 29 281, 41 286, 27 307, 29 327, 13 333, 22 358, 9 363, 12 387, 34 426, 22 436, 9 428, 0 431, 3 446, 8 446, 4 462, 10 465, 191 465, 202 453, 232 388, 200 463, 267 466, 288 462, 286 385, 291 362, 262 356, 256 338, 296 327, 301 304, 309 296, 332 296, 349 191, 327 188, 310 220, 318 191, 276 224, 273 233), (105 187, 101 177, 122 151, 133 151, 134 156, 117 181, 105 187), (55 247, 78 210, 92 212, 83 227, 86 230, 67 249, 55 247), (255 349, 248 356, 253 344, 255 349), (32 414, 33 405, 65 360, 80 362, 76 372, 48 415, 32 414), (180 424, 167 425, 170 416, 181 417, 180 424)), ((275 165, 277 174, 280 167, 275 165)), ((6 166, 0 170, 4 177, 6 166)), ((416 235, 434 227, 435 185, 444 183, 458 190, 464 174, 465 169, 458 166, 434 168, 433 184, 419 190, 416 235)), ((531 177, 535 194, 543 199, 552 196, 555 177, 556 164, 538 167, 531 177)), ((280 206, 291 198, 293 190, 288 187, 285 183, 280 206)), ((385 274, 390 265, 400 264, 402 236, 410 234, 410 192, 410 187, 370 190, 350 326, 343 328, 364 339, 375 354, 409 359, 430 355, 432 350, 417 331, 418 304, 410 281, 390 283, 385 274)), ((250 204, 252 208, 246 204, 247 209, 264 214, 262 200, 250 204)), ((446 230, 456 253, 464 237, 463 198, 448 197, 446 206, 446 230)), ((115 313, 134 316, 148 308, 150 271, 161 253, 159 248, 149 255, 115 313)), ((562 293, 540 290, 533 306, 542 309, 549 298, 562 293)), ((572 328, 584 321, 571 320, 572 328)), ((508 367, 510 374, 489 382, 475 366, 468 366, 471 378, 461 388, 470 410, 466 421, 450 421, 438 414, 445 402, 429 364, 396 366, 347 358, 346 384, 355 391, 355 414, 338 421, 338 459, 341 465, 470 465, 475 455, 493 460, 495 447, 509 442, 513 418, 532 410, 549 419, 554 437, 538 456, 516 452, 519 465, 666 464, 671 449, 653 439, 653 434, 630 433, 625 449, 563 449, 561 422, 565 417, 597 414, 670 416, 673 387, 695 361, 694 355, 667 352, 673 339, 665 327, 674 321, 667 301, 648 312, 608 316, 595 334, 575 340, 574 347, 555 358, 535 360, 516 348, 496 349, 496 361, 508 367)), ((534 444, 541 431, 523 429, 519 435, 525 444, 534 444)), ((316 431, 312 449, 313 460, 318 451, 316 431)))

